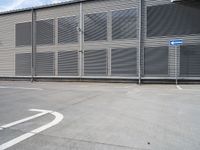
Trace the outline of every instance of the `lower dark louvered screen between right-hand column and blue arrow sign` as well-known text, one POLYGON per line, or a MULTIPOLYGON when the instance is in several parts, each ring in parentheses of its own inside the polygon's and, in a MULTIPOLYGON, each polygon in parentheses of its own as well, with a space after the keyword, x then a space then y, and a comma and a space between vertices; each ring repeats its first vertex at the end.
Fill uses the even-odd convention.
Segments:
POLYGON ((168 75, 168 47, 148 47, 144 50, 144 73, 146 76, 168 75))

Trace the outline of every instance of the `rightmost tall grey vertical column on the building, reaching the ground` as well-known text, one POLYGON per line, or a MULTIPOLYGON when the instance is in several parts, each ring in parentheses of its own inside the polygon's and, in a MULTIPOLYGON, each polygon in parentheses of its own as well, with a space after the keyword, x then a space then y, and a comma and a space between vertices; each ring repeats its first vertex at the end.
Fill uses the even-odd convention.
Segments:
POLYGON ((139 13, 138 13, 138 16, 139 16, 139 34, 138 34, 138 62, 139 62, 139 65, 138 65, 138 83, 139 85, 141 85, 141 48, 142 48, 142 5, 143 5, 143 0, 139 0, 139 13))

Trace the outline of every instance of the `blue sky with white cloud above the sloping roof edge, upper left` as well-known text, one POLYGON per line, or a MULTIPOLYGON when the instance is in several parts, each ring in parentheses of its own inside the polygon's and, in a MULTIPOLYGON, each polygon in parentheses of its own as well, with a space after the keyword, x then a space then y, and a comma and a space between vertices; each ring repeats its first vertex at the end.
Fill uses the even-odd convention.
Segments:
POLYGON ((0 0, 0 12, 65 1, 70 0, 0 0))

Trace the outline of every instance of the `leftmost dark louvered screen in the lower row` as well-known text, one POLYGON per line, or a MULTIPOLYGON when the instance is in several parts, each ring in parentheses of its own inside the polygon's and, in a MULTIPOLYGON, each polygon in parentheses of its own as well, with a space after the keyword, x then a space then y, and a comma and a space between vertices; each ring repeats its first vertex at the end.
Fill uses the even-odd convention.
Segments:
POLYGON ((31 53, 15 54, 15 75, 31 75, 31 53))

